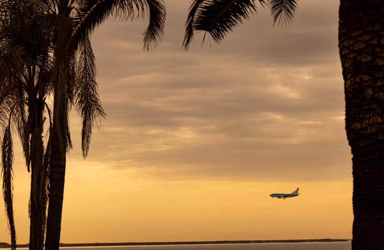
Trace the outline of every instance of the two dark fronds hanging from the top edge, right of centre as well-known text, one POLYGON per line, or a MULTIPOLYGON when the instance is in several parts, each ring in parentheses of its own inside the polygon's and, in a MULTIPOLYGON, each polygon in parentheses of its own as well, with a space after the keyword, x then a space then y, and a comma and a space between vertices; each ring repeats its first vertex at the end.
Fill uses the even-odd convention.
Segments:
MULTIPOLYGON (((298 0, 258 2, 261 6, 268 3, 273 23, 278 22, 278 25, 291 22, 298 4, 298 0)), ((256 0, 193 0, 187 17, 183 45, 188 49, 194 31, 205 31, 216 43, 220 43, 233 28, 242 24, 253 13, 257 13, 256 0)))

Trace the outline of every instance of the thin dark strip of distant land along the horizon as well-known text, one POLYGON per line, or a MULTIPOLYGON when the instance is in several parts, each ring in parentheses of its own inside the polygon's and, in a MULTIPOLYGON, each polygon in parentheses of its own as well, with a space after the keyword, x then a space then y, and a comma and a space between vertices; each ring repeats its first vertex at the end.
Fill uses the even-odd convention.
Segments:
MULTIPOLYGON (((239 243, 295 243, 295 242, 336 242, 345 239, 311 239, 311 240, 217 240, 217 241, 179 241, 179 242, 120 242, 120 243, 60 243, 60 247, 103 247, 103 246, 146 246, 146 245, 195 245, 195 244, 239 244, 239 243)), ((10 247, 3 243, 0 248, 10 247)), ((17 245, 28 247, 28 244, 17 245)))

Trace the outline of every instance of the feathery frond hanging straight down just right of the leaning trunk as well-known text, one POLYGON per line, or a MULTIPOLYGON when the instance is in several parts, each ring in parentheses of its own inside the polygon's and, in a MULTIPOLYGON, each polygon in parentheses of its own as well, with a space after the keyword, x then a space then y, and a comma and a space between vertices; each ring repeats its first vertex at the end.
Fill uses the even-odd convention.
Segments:
POLYGON ((81 149, 83 157, 88 154, 91 142, 92 127, 99 125, 106 114, 101 106, 98 95, 98 84, 96 82, 96 65, 87 36, 79 45, 79 77, 74 88, 74 104, 81 116, 83 129, 81 131, 81 149))

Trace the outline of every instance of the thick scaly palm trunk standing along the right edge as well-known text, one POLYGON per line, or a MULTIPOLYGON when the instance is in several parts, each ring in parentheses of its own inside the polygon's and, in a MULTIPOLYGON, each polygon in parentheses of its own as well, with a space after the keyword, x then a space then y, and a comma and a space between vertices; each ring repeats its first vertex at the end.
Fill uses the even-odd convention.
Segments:
POLYGON ((353 154, 352 249, 384 249, 384 1, 341 0, 339 52, 353 154))

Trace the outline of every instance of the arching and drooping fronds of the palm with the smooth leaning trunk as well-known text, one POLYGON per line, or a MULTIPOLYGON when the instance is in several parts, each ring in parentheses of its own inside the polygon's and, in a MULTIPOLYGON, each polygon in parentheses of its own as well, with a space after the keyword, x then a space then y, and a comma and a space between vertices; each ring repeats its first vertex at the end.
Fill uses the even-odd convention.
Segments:
MULTIPOLYGON (((68 91, 71 93, 70 88, 66 88, 64 84, 65 82, 69 83, 69 81, 71 81, 71 77, 68 77, 70 73, 68 71, 68 58, 73 57, 74 54, 79 52, 79 64, 81 65, 82 73, 79 77, 78 84, 86 83, 88 86, 87 93, 93 96, 90 97, 87 102, 84 98, 86 94, 76 91, 78 95, 77 97, 75 96, 75 101, 79 101, 80 103, 78 104, 83 106, 83 108, 87 108, 87 104, 92 103, 93 108, 89 110, 94 112, 93 114, 88 114, 85 112, 85 109, 84 112, 80 112, 83 119, 82 138, 85 141, 82 142, 82 149, 85 157, 88 153, 88 146, 86 145, 89 145, 90 142, 91 127, 93 127, 95 123, 98 123, 97 121, 100 121, 100 119, 105 118, 104 111, 98 101, 96 91, 97 83, 94 81, 96 71, 94 68, 94 56, 89 42, 90 33, 111 15, 121 19, 133 20, 135 16, 144 17, 144 13, 147 12, 149 15, 149 25, 143 33, 143 42, 144 49, 151 50, 156 47, 162 39, 166 10, 163 0, 83 0, 74 3, 76 3, 76 5, 71 7, 73 8, 71 19, 66 18, 62 21, 60 29, 61 35, 59 35, 56 41, 56 63, 54 63, 54 67, 56 67, 54 70, 56 74, 54 78, 56 80, 54 82, 56 83, 55 96, 57 98, 57 105, 54 106, 53 113, 57 114, 58 110, 65 107, 62 105, 63 98, 67 98, 65 93, 68 93, 68 91), (70 22, 72 22, 71 29, 68 28, 70 22), (84 63, 86 64, 84 65, 84 63), (90 81, 91 78, 93 78, 92 81, 90 81), (89 84, 91 82, 93 82, 93 86, 89 84), (91 99, 94 101, 89 102, 91 99), (85 114, 87 114, 87 117, 83 116, 85 114)), ((82 89, 86 90, 87 88, 82 89)), ((76 89, 78 90, 78 88, 76 89)), ((54 115, 56 124, 60 125, 58 117, 59 116, 54 115)), ((60 129, 60 126, 55 127, 58 130, 60 129)), ((61 137, 60 133, 57 132, 57 134, 61 137)), ((61 141, 61 138, 59 138, 59 141, 61 141)))

